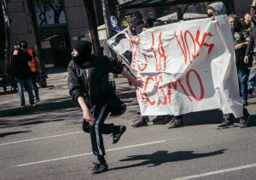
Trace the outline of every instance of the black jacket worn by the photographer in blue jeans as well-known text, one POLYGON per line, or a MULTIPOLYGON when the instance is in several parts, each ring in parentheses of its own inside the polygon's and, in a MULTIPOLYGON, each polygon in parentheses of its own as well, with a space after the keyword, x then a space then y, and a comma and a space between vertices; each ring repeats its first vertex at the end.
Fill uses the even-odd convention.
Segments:
POLYGON ((17 55, 12 55, 13 68, 15 68, 14 76, 17 79, 32 77, 32 71, 28 65, 28 61, 31 60, 32 56, 27 52, 19 51, 17 55))

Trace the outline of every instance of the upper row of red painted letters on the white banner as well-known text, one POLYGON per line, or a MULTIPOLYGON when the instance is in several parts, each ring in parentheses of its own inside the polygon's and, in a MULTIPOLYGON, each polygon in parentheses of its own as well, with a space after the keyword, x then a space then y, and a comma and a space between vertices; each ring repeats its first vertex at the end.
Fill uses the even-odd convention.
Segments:
MULTIPOLYGON (((199 57, 199 52, 203 47, 207 47, 207 53, 210 54, 212 53, 212 49, 214 48, 213 43, 207 43, 206 39, 207 37, 212 37, 212 33, 210 32, 204 32, 201 39, 201 30, 198 29, 196 31, 196 35, 193 36, 192 33, 187 30, 187 31, 180 31, 179 38, 177 36, 177 32, 174 31, 174 37, 177 40, 178 47, 181 49, 181 52, 183 53, 183 59, 185 65, 188 63, 191 63, 193 59, 196 57, 199 57), (192 41, 193 47, 189 47, 189 40, 192 41), (191 49, 190 49, 191 48, 191 49), (192 53, 193 52, 193 53, 192 53)), ((137 37, 131 37, 131 44, 130 44, 130 49, 132 53, 132 62, 131 62, 131 67, 135 68, 136 65, 136 60, 137 60, 137 54, 141 53, 141 49, 139 46, 139 43, 141 41, 141 38, 139 36, 137 37)), ((151 50, 154 53, 154 59, 155 59, 155 71, 156 72, 161 72, 166 70, 166 50, 163 47, 163 42, 162 42, 162 32, 160 31, 157 35, 154 35, 154 33, 151 33, 151 50), (158 41, 156 41, 156 38, 158 38, 158 41), (156 42, 159 42, 156 44, 156 42)), ((140 71, 144 71, 147 69, 148 66, 148 59, 145 54, 143 54, 143 58, 145 60, 144 65, 138 65, 138 69, 140 71)))

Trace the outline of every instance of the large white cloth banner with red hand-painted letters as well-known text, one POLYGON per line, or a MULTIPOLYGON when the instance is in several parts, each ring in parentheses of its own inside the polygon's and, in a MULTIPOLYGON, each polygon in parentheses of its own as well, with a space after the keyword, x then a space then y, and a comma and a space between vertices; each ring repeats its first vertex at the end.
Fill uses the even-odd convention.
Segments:
POLYGON ((142 115, 182 115, 221 109, 242 116, 233 37, 227 17, 161 25, 108 40, 143 87, 142 115))

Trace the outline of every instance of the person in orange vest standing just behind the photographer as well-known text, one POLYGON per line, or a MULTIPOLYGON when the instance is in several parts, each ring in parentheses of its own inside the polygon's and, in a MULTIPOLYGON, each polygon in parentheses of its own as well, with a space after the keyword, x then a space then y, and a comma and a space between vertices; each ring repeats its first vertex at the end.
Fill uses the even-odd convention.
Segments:
POLYGON ((33 89, 36 96, 35 100, 36 102, 39 102, 40 98, 39 98, 38 85, 37 85, 37 70, 39 74, 41 74, 41 70, 40 70, 40 63, 39 63, 38 56, 31 48, 27 48, 26 41, 20 42, 20 48, 25 49, 27 53, 29 53, 32 56, 32 61, 29 61, 28 65, 30 67, 30 70, 32 71, 32 85, 33 85, 33 89))

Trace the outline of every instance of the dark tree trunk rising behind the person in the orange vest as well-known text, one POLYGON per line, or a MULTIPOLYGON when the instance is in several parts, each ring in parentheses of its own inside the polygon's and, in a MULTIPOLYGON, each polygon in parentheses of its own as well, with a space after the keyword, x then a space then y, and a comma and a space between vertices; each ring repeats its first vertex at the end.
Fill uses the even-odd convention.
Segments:
POLYGON ((41 69, 45 70, 45 63, 44 59, 42 58, 42 49, 39 40, 39 32, 38 32, 38 24, 37 24, 37 16, 34 8, 34 4, 32 0, 26 0, 26 5, 28 8, 28 23, 32 25, 32 36, 33 36, 33 43, 35 47, 35 51, 37 53, 38 59, 40 60, 41 69))

